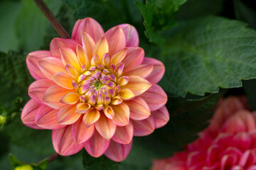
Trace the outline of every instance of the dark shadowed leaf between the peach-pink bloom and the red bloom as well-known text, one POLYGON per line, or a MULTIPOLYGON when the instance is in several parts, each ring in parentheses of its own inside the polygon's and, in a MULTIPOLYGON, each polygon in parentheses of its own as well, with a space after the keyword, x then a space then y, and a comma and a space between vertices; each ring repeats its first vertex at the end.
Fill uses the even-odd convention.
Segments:
POLYGON ((169 157, 183 150, 184 145, 195 140, 197 133, 207 127, 213 108, 224 93, 197 99, 169 96, 166 104, 170 113, 169 123, 149 136, 134 137, 132 150, 124 164, 149 169, 151 159, 169 157))

